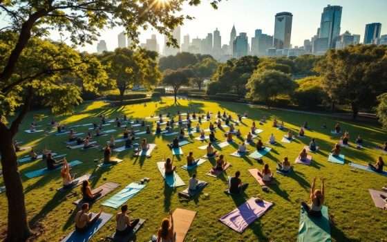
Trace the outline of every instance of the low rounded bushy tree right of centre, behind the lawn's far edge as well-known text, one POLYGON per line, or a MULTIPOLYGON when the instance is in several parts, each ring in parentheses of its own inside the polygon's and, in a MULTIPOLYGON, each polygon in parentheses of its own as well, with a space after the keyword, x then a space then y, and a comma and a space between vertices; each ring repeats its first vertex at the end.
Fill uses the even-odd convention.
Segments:
POLYGON ((296 88, 290 75, 281 71, 255 71, 249 78, 247 84, 247 97, 252 100, 263 100, 270 106, 275 97, 280 94, 290 94, 296 88))

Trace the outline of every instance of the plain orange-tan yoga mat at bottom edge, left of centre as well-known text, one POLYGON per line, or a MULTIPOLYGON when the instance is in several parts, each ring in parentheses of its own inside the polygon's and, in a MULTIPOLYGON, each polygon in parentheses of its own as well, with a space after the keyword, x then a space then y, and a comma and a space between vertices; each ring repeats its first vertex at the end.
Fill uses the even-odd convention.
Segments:
POLYGON ((176 233, 175 242, 183 242, 185 236, 191 227, 193 218, 196 216, 195 211, 191 210, 182 210, 181 208, 176 208, 172 214, 173 216, 173 225, 176 233))

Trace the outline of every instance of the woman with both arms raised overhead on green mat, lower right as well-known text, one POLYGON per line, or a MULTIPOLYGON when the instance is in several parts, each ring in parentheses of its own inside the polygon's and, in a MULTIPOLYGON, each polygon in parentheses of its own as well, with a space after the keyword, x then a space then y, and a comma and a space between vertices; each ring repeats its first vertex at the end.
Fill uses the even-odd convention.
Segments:
POLYGON ((313 178, 312 187, 310 188, 310 201, 311 204, 308 205, 305 202, 301 202, 303 209, 308 212, 309 216, 321 216, 321 208, 324 203, 324 181, 321 179, 321 190, 314 189, 314 183, 316 183, 316 178, 313 178))

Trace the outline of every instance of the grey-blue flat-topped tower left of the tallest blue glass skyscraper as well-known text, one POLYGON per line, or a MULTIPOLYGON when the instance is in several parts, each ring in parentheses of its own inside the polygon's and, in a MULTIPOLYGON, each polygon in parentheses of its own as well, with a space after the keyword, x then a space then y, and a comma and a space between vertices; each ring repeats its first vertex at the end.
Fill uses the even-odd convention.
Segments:
POLYGON ((274 48, 290 48, 292 19, 293 15, 290 12, 279 12, 276 14, 273 39, 274 48))

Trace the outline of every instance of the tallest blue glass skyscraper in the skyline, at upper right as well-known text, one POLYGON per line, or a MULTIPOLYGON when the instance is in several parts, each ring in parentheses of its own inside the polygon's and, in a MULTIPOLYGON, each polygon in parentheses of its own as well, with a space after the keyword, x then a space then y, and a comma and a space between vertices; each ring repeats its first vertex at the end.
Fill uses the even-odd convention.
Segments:
MULTIPOLYGON (((326 6, 321 14, 320 29, 318 32, 319 38, 327 38, 327 49, 334 48, 336 38, 340 35, 341 26, 341 6, 326 6)), ((323 41, 320 40, 322 43, 323 41)))

